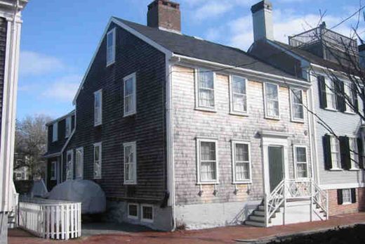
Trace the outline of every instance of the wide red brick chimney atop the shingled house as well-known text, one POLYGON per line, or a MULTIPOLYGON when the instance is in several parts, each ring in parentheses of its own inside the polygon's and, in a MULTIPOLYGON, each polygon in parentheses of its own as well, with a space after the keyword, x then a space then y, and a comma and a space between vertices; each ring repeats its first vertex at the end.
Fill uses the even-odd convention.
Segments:
POLYGON ((148 6, 147 25, 162 30, 181 32, 180 4, 169 0, 154 0, 148 6))

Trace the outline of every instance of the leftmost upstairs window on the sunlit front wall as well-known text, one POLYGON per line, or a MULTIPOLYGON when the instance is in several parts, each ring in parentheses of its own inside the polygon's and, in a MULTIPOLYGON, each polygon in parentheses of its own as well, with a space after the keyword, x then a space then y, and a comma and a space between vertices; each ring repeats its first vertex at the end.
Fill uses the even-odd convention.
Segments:
POLYGON ((197 70, 198 79, 198 107, 214 109, 214 72, 205 69, 197 70))

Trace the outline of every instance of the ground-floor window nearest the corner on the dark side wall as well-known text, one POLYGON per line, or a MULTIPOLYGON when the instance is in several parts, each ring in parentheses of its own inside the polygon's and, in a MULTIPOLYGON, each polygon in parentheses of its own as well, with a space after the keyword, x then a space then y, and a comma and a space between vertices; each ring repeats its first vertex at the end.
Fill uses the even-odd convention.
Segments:
POLYGON ((137 184, 135 142, 124 143, 124 184, 137 184))

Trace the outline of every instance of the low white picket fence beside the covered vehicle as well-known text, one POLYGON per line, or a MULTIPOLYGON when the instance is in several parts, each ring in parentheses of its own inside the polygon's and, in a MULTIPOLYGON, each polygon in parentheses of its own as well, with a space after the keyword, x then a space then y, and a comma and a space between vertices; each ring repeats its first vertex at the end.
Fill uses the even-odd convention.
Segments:
POLYGON ((68 240, 81 236, 81 203, 42 198, 22 198, 20 228, 41 238, 68 240))

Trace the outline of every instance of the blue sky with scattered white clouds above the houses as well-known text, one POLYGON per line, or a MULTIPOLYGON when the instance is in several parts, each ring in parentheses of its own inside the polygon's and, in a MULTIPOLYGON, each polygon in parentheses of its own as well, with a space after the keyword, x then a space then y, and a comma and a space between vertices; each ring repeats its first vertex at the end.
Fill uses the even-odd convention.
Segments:
MULTIPOLYGON (((58 117, 73 109, 72 98, 110 16, 146 23, 152 0, 30 0, 23 11, 18 118, 58 117)), ((253 40, 250 7, 258 0, 178 0, 183 33, 245 51, 253 40)), ((309 30, 319 10, 331 27, 359 8, 359 0, 272 0, 274 37, 309 30)), ((365 4, 365 3, 364 3, 365 4)), ((336 28, 349 35, 353 18, 336 28)), ((364 28, 364 19, 360 25, 364 28)))

